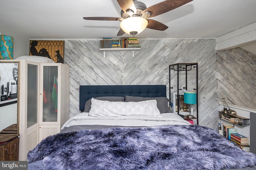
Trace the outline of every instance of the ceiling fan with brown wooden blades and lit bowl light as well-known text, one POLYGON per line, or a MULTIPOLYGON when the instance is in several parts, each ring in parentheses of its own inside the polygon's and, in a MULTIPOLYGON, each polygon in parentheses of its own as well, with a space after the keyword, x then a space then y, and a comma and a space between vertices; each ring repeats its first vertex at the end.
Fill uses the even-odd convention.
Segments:
POLYGON ((148 18, 178 8, 190 1, 192 0, 165 0, 147 8, 143 2, 137 0, 117 0, 122 9, 121 17, 84 17, 84 20, 121 21, 121 29, 117 36, 124 35, 124 33, 136 35, 145 28, 164 31, 168 26, 148 18))

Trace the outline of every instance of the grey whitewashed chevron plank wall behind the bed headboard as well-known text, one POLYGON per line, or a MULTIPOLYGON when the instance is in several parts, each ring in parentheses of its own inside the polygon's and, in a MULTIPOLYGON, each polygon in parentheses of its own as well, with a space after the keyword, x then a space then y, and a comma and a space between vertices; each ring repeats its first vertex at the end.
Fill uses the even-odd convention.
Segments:
MULTIPOLYGON (((169 64, 198 63, 199 125, 217 128, 216 39, 139 39, 141 49, 135 57, 131 51, 106 51, 105 58, 99 51, 99 41, 65 40, 64 62, 70 65, 70 117, 80 113, 80 85, 166 84, 169 89, 169 64)), ((190 81, 195 83, 193 75, 190 81)))

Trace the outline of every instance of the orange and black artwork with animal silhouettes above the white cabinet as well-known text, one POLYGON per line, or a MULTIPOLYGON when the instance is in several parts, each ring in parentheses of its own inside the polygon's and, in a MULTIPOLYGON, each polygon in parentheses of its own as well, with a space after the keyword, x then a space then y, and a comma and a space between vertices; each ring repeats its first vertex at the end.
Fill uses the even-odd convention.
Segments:
POLYGON ((64 41, 30 40, 29 55, 48 57, 55 63, 64 63, 64 41))

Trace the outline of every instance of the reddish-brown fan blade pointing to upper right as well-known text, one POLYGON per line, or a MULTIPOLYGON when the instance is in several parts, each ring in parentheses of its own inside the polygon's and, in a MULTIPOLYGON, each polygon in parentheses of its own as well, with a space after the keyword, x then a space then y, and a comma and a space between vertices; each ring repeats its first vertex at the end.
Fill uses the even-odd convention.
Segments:
POLYGON ((192 0, 166 0, 163 2, 160 2, 158 4, 152 5, 142 11, 142 14, 144 12, 150 12, 150 17, 158 16, 160 14, 164 14, 165 12, 168 12, 170 10, 173 10, 175 8, 178 8, 192 0))

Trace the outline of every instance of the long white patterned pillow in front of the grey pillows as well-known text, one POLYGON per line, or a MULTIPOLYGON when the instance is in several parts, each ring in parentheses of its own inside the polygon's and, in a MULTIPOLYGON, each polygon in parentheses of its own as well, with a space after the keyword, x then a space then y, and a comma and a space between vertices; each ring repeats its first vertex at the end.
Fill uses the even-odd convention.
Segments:
POLYGON ((91 102, 90 116, 160 116, 156 100, 146 100, 142 102, 109 102, 92 98, 91 102))

